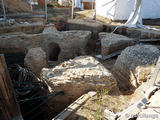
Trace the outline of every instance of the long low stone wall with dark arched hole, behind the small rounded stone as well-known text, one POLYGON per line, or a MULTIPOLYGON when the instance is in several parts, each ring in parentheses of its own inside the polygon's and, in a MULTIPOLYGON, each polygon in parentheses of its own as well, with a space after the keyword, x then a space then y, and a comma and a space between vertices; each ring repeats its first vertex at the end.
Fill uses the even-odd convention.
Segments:
POLYGON ((58 46, 60 49, 58 60, 64 61, 86 54, 86 46, 90 38, 90 31, 76 30, 48 34, 3 34, 0 36, 0 52, 26 52, 28 49, 41 47, 47 56, 50 56, 49 54, 54 53, 49 53, 52 51, 49 45, 54 43, 53 47, 57 48, 58 46))

